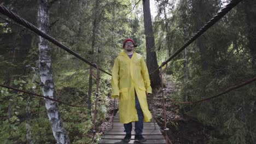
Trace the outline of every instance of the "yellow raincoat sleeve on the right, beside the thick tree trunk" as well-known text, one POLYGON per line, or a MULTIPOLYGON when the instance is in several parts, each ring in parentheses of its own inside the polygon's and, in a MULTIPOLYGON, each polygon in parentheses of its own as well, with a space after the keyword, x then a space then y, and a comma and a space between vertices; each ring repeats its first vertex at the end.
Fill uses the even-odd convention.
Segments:
POLYGON ((149 74, 148 74, 148 68, 147 68, 146 62, 144 61, 143 58, 141 58, 141 70, 142 70, 144 85, 145 85, 145 88, 147 89, 146 92, 152 93, 152 88, 150 86, 150 79, 149 79, 149 74))

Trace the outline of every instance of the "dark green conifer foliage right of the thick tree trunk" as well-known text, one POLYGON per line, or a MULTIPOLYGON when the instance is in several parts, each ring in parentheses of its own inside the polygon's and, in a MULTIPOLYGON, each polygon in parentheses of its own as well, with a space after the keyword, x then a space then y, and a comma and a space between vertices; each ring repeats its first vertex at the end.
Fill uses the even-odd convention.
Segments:
MULTIPOLYGON (((176 52, 224 4, 222 1, 183 0, 171 7, 170 2, 158 2, 159 13, 154 26, 159 60, 176 52)), ((168 64, 167 72, 172 74, 171 81, 177 88, 168 97, 177 101, 184 101, 186 96, 189 101, 201 100, 255 76, 253 53, 248 47, 245 6, 245 3, 238 4, 208 29, 201 41, 188 46, 187 82, 184 52, 168 64), (203 64, 207 65, 206 69, 203 64)), ((255 143, 255 104, 255 83, 251 83, 212 100, 181 106, 185 114, 214 128, 208 143, 255 143)))

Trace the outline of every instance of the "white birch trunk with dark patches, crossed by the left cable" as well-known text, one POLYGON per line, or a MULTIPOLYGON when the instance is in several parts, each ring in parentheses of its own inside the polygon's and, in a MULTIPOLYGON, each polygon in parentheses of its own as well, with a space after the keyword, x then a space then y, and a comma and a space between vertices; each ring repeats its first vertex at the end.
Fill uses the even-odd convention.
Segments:
MULTIPOLYGON (((45 33, 49 32, 49 3, 47 0, 38 0, 38 28, 45 33)), ((51 70, 51 56, 48 41, 39 37, 39 68, 40 79, 43 83, 45 97, 55 98, 53 71, 51 70)), ((68 135, 63 128, 59 107, 53 100, 44 99, 48 112, 51 129, 57 143, 70 143, 68 135)))

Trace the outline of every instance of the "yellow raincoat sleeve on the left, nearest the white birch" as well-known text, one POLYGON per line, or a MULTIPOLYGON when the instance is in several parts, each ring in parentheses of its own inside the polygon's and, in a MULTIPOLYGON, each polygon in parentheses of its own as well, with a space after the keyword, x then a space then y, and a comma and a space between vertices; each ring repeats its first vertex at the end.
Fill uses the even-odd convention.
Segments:
POLYGON ((112 68, 112 98, 119 98, 119 60, 115 59, 114 66, 112 68))

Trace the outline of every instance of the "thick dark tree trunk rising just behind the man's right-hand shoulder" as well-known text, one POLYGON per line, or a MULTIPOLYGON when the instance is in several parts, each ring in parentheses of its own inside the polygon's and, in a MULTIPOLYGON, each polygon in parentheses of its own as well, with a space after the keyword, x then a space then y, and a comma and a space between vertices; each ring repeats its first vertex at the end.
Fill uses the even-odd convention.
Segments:
MULTIPOLYGON (((155 46, 155 39, 152 27, 152 20, 150 14, 149 0, 143 0, 143 16, 144 16, 144 28, 146 35, 146 47, 147 47, 147 67, 149 73, 152 73, 158 68, 158 61, 156 53, 153 51, 155 46)), ((159 70, 150 75, 151 86, 157 88, 160 86, 159 70)))

